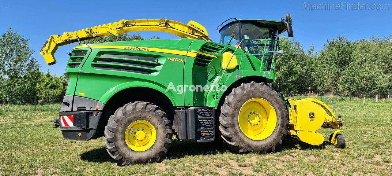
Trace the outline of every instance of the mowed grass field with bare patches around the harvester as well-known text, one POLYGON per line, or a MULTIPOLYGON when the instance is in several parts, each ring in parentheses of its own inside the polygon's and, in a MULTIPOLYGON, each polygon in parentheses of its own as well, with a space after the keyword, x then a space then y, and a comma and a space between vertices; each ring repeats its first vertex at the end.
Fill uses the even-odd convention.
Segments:
POLYGON ((103 138, 64 140, 56 111, 0 113, 0 175, 392 175, 392 103, 337 102, 345 120, 345 149, 285 139, 274 153, 239 154, 220 143, 173 140, 160 163, 118 166, 103 138))

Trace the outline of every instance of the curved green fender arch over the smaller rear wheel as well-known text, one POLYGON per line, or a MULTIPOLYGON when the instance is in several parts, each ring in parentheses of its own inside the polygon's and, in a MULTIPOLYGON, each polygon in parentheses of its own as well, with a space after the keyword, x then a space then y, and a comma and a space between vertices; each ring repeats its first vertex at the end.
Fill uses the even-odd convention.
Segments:
POLYGON ((164 88, 162 88, 156 84, 141 82, 141 81, 118 84, 117 86, 111 88, 105 94, 103 94, 103 96, 101 97, 101 99, 99 101, 102 102, 103 104, 106 104, 107 101, 109 101, 109 99, 113 95, 115 95, 116 93, 118 93, 124 89, 132 88, 132 87, 145 87, 145 88, 152 88, 154 90, 158 90, 159 92, 166 95, 167 98, 169 98, 169 100, 171 101, 173 106, 176 106, 176 103, 174 102, 172 95, 170 95, 169 92, 166 92, 166 90, 164 88))

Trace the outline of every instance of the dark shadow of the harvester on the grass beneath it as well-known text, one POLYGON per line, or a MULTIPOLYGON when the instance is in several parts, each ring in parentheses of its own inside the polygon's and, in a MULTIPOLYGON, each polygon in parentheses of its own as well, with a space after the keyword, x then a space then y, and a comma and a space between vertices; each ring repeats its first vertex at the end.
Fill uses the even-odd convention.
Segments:
MULTIPOLYGON (((313 146, 310 144, 306 144, 301 142, 300 140, 294 140, 290 138, 283 139, 283 145, 280 145, 275 149, 275 152, 282 152, 286 150, 295 150, 298 147, 301 150, 307 149, 324 149, 325 146, 329 145, 329 142, 324 141, 323 144, 319 146, 313 146)), ((180 140, 172 140, 171 148, 169 152, 163 157, 163 159, 171 160, 171 159, 180 159, 185 156, 198 156, 198 155, 215 155, 222 153, 235 153, 241 154, 238 152, 234 152, 226 147, 223 142, 206 142, 206 143, 198 143, 194 141, 180 141, 180 140)), ((110 155, 107 153, 106 148, 102 147, 99 149, 93 149, 82 153, 80 155, 80 159, 87 162, 95 162, 95 163, 104 163, 111 162, 116 163, 110 155)))

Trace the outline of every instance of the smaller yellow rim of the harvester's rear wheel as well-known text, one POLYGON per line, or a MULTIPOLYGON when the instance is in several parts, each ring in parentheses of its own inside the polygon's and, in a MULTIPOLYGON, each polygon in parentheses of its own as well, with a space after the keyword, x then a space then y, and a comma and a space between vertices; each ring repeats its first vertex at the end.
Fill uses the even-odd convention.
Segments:
POLYGON ((134 151, 149 149, 156 140, 154 126, 146 120, 136 120, 125 130, 125 143, 134 151))

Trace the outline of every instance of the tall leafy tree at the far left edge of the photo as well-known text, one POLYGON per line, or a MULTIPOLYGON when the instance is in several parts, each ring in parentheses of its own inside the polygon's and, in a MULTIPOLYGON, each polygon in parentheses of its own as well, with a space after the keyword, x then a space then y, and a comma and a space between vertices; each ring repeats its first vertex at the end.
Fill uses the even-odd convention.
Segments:
POLYGON ((35 96, 40 65, 31 57, 29 40, 11 27, 0 36, 0 95, 9 102, 23 102, 21 96, 35 96))

